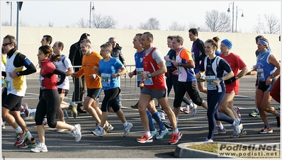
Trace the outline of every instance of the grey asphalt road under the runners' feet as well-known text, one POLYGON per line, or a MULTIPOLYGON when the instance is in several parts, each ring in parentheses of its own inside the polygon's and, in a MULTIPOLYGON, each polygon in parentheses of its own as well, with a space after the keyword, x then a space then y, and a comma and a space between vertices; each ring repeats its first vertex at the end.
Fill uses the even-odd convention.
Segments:
MULTIPOLYGON (((123 85, 130 86, 122 80, 123 85)), ((238 106, 244 128, 247 135, 239 138, 230 138, 232 135, 232 126, 223 122, 227 133, 225 135, 215 135, 215 142, 238 142, 243 144, 269 144, 281 142, 281 129, 276 127, 276 118, 274 115, 267 114, 269 123, 273 127, 272 134, 259 135, 258 131, 264 127, 261 118, 251 118, 249 113, 254 109, 254 81, 255 76, 246 76, 241 79, 239 95, 235 97, 235 106, 238 106)), ((71 82, 72 83, 72 82, 71 82)), ((128 91, 134 90, 135 86, 128 88, 128 91)), ((39 83, 38 79, 28 79, 28 90, 23 98, 23 103, 28 103, 30 108, 36 108, 38 103, 39 83)), ((72 90, 70 91, 72 93, 72 90)), ((203 99, 206 95, 201 93, 203 99)), ((71 97, 71 96, 70 96, 71 97)), ((174 91, 171 91, 169 104, 172 107, 174 91)), ((52 101, 52 100, 51 100, 52 101)), ((66 98, 66 101, 69 101, 66 98)), ((143 127, 140 122, 137 109, 130 108, 137 101, 123 101, 122 110, 128 122, 134 125, 130 134, 123 137, 123 127, 115 113, 109 113, 108 122, 111 122, 114 130, 103 137, 96 137, 91 134, 94 130, 95 121, 88 113, 79 114, 77 118, 69 117, 67 123, 75 125, 81 124, 82 138, 80 142, 75 142, 70 132, 55 132, 50 127, 45 127, 45 144, 48 152, 32 153, 30 149, 20 149, 14 147, 16 141, 15 131, 11 126, 6 124, 6 129, 2 130, 1 139, 1 157, 2 159, 171 159, 175 158, 174 151, 176 145, 169 145, 170 134, 162 140, 154 140, 152 143, 140 144, 135 142, 143 134, 143 127)), ((280 104, 271 100, 277 110, 280 104)), ((28 129, 33 137, 38 140, 36 126, 34 120, 26 120, 28 129)), ((157 129, 159 127, 155 124, 157 129)), ((179 143, 187 142, 203 142, 208 136, 208 119, 206 118, 206 110, 198 107, 197 114, 191 117, 190 114, 181 113, 179 116, 178 127, 184 136, 179 143)))

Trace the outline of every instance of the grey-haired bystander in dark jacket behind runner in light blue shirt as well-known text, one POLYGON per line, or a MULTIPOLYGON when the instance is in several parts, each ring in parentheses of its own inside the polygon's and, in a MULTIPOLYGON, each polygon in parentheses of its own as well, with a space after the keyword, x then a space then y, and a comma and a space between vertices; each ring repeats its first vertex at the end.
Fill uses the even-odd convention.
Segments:
MULTIPOLYGON (((108 38, 108 42, 110 42, 112 44, 112 46, 113 46, 113 50, 111 52, 111 57, 115 57, 115 58, 120 59, 120 62, 122 62, 123 65, 125 65, 125 59, 123 57, 123 54, 121 53, 122 47, 120 47, 120 45, 118 45, 118 43, 116 42, 116 39, 113 38, 113 37, 108 38)), ((125 74, 125 76, 126 76, 126 74, 125 74)), ((120 76, 118 76, 118 83, 120 84, 120 76)), ((120 93, 118 94, 116 99, 118 101, 118 105, 121 107, 122 104, 121 104, 121 95, 120 95, 120 93)))

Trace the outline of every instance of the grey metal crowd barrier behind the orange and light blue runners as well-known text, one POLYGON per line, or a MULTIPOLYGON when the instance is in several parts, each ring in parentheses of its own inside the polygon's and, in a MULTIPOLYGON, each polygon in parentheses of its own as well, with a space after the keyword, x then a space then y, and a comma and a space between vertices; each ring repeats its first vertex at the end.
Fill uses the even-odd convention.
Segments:
MULTIPOLYGON (((80 68, 81 66, 73 66, 73 68, 80 68)), ((140 88, 137 87, 137 76, 132 76, 130 79, 128 76, 129 72, 132 72, 135 70, 135 65, 125 65, 125 68, 127 70, 126 76, 120 76, 120 95, 121 100, 120 101, 137 101, 139 100, 140 96, 140 88)), ((71 95, 74 92, 74 84, 75 81, 72 81, 72 77, 69 76, 69 95, 68 95, 68 101, 72 101, 71 95)), ((87 92, 84 93, 84 98, 87 95, 87 92)), ((74 95, 76 96, 76 95, 74 95)), ((99 102, 101 103, 103 101, 104 93, 101 92, 99 102)), ((74 103, 83 103, 83 101, 74 101, 74 103)))

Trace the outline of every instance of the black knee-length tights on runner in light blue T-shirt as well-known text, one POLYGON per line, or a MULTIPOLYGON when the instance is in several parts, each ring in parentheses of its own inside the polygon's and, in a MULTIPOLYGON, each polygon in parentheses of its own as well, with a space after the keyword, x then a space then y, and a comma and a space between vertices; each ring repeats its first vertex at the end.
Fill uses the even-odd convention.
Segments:
POLYGON ((111 106, 113 108, 113 111, 116 113, 118 110, 120 110, 120 107, 118 106, 118 101, 116 100, 116 97, 120 93, 120 88, 111 88, 108 90, 104 90, 104 98, 101 105, 102 112, 108 112, 108 107, 111 106))

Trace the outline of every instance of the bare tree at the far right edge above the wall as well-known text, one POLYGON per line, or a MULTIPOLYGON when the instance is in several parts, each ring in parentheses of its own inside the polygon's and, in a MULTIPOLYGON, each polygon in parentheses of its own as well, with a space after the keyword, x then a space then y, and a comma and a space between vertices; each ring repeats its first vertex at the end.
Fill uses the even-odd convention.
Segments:
POLYGON ((264 15, 264 18, 266 20, 264 33, 269 34, 276 34, 280 33, 280 23, 276 16, 272 13, 271 15, 264 15))

